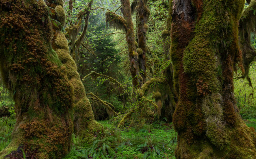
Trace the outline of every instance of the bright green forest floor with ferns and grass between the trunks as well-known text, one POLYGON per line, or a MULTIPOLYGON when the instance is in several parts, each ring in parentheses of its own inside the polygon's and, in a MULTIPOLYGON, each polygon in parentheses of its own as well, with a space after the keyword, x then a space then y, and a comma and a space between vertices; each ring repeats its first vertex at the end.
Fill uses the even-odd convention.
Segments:
MULTIPOLYGON (((175 159, 177 134, 172 123, 158 122, 139 129, 119 130, 109 120, 98 122, 108 130, 106 137, 82 144, 73 135, 72 148, 65 159, 175 159)), ((256 119, 245 122, 256 129, 256 119)), ((0 118, 0 151, 10 143, 14 125, 13 117, 0 118)))

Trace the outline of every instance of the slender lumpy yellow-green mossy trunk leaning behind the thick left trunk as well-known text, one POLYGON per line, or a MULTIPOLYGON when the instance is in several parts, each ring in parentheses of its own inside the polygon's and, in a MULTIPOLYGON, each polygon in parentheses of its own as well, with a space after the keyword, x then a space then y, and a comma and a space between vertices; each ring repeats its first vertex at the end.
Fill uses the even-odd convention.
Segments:
MULTIPOLYGON (((65 24, 65 16, 63 19, 64 9, 62 0, 56 2, 48 1, 51 8, 52 18, 65 24), (59 17, 59 15, 61 17, 59 17)), ((65 15, 65 13, 64 13, 65 15)), ((93 136, 101 134, 103 131, 102 125, 95 121, 91 104, 86 97, 85 88, 77 72, 76 63, 69 54, 69 46, 65 35, 61 32, 62 26, 53 26, 54 36, 52 40, 52 48, 59 57, 63 66, 67 69, 67 77, 69 83, 74 88, 74 133, 79 135, 84 141, 88 141, 93 136)))

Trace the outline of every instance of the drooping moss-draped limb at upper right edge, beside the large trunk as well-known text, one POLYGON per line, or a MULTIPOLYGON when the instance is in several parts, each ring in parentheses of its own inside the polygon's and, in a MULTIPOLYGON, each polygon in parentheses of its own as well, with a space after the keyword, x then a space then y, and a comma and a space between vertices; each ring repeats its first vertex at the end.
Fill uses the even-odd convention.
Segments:
POLYGON ((249 77, 250 63, 256 58, 256 49, 251 43, 251 34, 256 29, 256 0, 252 0, 249 6, 243 11, 239 20, 239 43, 243 54, 244 72, 240 78, 247 78, 249 85, 252 87, 252 82, 249 77))

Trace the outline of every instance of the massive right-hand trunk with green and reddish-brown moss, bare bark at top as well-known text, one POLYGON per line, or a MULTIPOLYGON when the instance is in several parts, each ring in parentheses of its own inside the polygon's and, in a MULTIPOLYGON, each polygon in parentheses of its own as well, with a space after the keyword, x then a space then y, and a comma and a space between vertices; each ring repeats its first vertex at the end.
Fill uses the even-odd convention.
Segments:
POLYGON ((177 159, 254 159, 256 136, 236 106, 244 0, 173 0, 171 60, 178 103, 177 159))

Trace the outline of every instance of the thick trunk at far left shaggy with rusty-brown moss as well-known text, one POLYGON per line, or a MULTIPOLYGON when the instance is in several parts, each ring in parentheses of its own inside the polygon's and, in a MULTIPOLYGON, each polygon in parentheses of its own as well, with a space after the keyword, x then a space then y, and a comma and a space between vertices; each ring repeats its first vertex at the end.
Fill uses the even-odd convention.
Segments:
POLYGON ((60 159, 70 149, 74 92, 52 50, 48 15, 43 0, 1 0, 0 71, 17 114, 1 159, 60 159))

